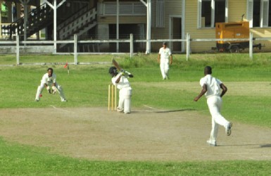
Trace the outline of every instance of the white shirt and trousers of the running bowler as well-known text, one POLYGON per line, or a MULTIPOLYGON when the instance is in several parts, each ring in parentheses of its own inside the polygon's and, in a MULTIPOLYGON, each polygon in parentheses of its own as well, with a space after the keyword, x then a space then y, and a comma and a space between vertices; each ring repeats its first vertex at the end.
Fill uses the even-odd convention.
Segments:
POLYGON ((222 125, 227 129, 229 121, 227 121, 221 114, 222 98, 220 97, 220 84, 222 82, 212 75, 206 75, 200 80, 201 87, 203 84, 207 85, 207 92, 205 94, 207 98, 207 104, 212 115, 212 130, 210 132, 210 142, 215 144, 218 136, 218 125, 222 125))

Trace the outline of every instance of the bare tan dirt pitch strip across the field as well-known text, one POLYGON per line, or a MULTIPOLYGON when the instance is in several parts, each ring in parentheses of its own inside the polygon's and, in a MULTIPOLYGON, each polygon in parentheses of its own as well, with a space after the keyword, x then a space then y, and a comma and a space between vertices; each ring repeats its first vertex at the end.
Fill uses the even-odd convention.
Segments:
POLYGON ((197 111, 132 113, 107 108, 0 109, 0 136, 7 141, 49 147, 52 153, 101 161, 271 160, 271 130, 233 122, 232 135, 218 132, 208 146, 210 117, 197 111))

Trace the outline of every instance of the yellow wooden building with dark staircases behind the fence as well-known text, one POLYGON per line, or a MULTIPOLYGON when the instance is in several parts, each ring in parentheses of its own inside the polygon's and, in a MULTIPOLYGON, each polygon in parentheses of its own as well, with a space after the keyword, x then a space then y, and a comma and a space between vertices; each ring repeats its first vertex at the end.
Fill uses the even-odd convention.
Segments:
MULTIPOLYGON (((249 21, 253 37, 271 37, 271 0, 0 0, 6 4, 1 12, 1 38, 45 39, 215 39, 215 23, 249 21), (119 2, 119 5, 117 5, 119 2), (55 4, 56 3, 56 4, 55 4), (146 6, 150 7, 150 11, 146 6), (13 8, 17 13, 13 13, 13 8), (56 7, 56 15, 52 10, 56 7), (118 11, 117 11, 118 9, 118 11), (151 20, 148 20, 148 15, 151 20), (27 16, 27 20, 24 20, 27 16), (56 18, 56 28, 54 28, 56 18), (150 27, 149 27, 150 26, 150 27), (150 31, 149 31, 150 29, 150 31), (25 32, 26 31, 26 32, 25 32), (54 32, 56 31, 56 32, 54 32), (55 34, 56 33, 56 34, 55 34)), ((270 41, 259 41, 271 51, 270 41)), ((148 44, 138 44, 144 51, 148 44)), ((157 52, 161 42, 151 42, 157 52)), ((101 44, 111 51, 115 44, 101 44)), ((185 42, 169 42, 175 53, 184 52, 185 42)), ((206 52, 215 42, 191 42, 192 52, 206 52)), ((58 47, 61 49, 61 46, 58 47)), ((114 49, 113 49, 114 50, 114 49)), ((65 51, 65 49, 63 49, 65 51)))

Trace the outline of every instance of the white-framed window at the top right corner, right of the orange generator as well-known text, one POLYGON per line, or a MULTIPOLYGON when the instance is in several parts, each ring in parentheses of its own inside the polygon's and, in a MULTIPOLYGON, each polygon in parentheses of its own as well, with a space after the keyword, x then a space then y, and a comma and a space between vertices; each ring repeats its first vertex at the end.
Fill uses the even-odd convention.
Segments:
POLYGON ((270 0, 248 0, 249 27, 271 26, 271 2, 270 0))

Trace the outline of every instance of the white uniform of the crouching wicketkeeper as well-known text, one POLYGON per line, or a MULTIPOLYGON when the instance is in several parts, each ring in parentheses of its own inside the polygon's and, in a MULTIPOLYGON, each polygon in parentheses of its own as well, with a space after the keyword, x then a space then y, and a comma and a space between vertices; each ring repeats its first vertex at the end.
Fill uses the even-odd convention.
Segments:
POLYGON ((45 87, 45 84, 47 84, 49 87, 52 87, 53 83, 56 86, 56 90, 58 94, 61 96, 61 101, 66 101, 65 100, 65 95, 63 93, 63 89, 61 85, 58 85, 56 82, 56 75, 53 73, 51 77, 49 77, 48 73, 45 73, 42 77, 41 84, 37 87, 37 94, 36 94, 36 101, 39 101, 39 96, 42 94, 42 91, 45 87))

